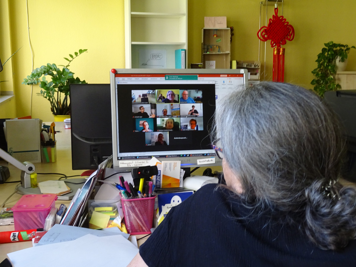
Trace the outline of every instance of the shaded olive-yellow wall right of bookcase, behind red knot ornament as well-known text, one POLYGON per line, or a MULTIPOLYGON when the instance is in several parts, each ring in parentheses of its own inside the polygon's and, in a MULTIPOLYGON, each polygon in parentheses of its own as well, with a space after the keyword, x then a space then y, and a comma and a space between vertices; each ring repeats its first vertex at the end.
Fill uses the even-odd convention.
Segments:
MULTIPOLYGON (((269 1, 275 3, 273 1, 269 1)), ((234 27, 231 59, 258 60, 257 32, 260 28, 260 0, 188 0, 188 66, 201 62, 201 28, 204 16, 226 16, 227 26, 234 27)), ((282 15, 279 5, 279 15, 282 15)), ((272 17, 274 5, 268 6, 272 17)), ((356 1, 354 0, 284 0, 283 16, 294 27, 295 38, 287 41, 284 81, 313 88, 311 71, 316 68, 316 56, 324 43, 356 46, 356 1)), ((262 8, 265 24, 266 7, 262 8)), ((265 43, 261 43, 264 52, 265 43)), ((261 53, 264 61, 264 53, 261 53)), ((263 67, 263 66, 262 66, 263 67)), ((262 68, 263 69, 263 68, 262 68)), ((267 42, 266 80, 272 80, 272 49, 267 42)), ((356 49, 349 54, 346 70, 356 70, 356 49)), ((264 75, 263 75, 264 76, 264 75)))

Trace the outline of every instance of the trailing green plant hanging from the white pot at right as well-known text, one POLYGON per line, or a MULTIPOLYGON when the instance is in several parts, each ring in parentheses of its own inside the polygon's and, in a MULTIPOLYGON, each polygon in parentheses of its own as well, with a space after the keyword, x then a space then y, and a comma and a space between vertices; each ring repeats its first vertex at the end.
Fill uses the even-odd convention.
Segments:
POLYGON ((326 91, 341 88, 341 85, 335 82, 336 60, 344 62, 350 53, 350 49, 355 48, 355 46, 349 47, 333 41, 324 43, 324 45, 325 47, 321 49, 321 53, 318 54, 315 61, 318 63, 318 67, 312 71, 315 79, 311 82, 314 85, 314 91, 321 97, 324 96, 326 91))

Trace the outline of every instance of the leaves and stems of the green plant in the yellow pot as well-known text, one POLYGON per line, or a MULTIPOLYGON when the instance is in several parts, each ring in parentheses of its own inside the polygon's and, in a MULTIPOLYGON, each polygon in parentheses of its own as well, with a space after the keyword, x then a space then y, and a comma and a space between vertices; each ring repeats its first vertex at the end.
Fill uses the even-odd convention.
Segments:
POLYGON ((66 66, 62 69, 58 68, 56 64, 47 63, 47 65, 36 68, 27 78, 23 79, 22 84, 40 84, 39 96, 43 96, 51 103, 51 111, 54 115, 69 115, 70 114, 70 95, 69 85, 86 83, 85 80, 80 80, 78 77, 74 78, 74 73, 68 67, 74 58, 83 54, 88 49, 79 49, 74 52, 74 56, 69 54, 70 59, 64 58, 68 61, 66 66), (51 81, 47 82, 46 76, 51 76, 51 81), (42 77, 42 80, 40 78, 42 77), (63 94, 63 95, 62 95, 63 94), (62 97, 63 96, 63 97, 62 97))

